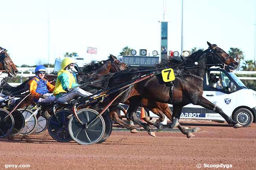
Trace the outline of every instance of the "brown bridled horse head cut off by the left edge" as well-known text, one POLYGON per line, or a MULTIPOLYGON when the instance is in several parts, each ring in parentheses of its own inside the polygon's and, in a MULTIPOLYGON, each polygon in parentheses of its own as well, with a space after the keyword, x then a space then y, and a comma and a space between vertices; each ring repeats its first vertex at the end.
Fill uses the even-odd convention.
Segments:
POLYGON ((0 47, 0 69, 8 74, 9 77, 16 77, 19 70, 7 54, 6 49, 0 47))

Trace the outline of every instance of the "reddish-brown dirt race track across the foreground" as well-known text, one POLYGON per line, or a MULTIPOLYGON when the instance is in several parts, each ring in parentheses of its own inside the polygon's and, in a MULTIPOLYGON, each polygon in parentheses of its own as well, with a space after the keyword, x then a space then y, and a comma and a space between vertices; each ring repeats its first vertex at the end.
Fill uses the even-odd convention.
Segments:
MULTIPOLYGON (((191 126, 195 127, 195 126, 191 126)), ((197 170, 204 164, 232 165, 232 170, 256 170, 256 124, 234 129, 198 126, 187 139, 179 132, 113 132, 102 144, 58 143, 44 132, 21 139, 0 139, 0 170, 5 165, 30 165, 27 170, 197 170)), ((15 169, 15 168, 7 168, 15 169)))

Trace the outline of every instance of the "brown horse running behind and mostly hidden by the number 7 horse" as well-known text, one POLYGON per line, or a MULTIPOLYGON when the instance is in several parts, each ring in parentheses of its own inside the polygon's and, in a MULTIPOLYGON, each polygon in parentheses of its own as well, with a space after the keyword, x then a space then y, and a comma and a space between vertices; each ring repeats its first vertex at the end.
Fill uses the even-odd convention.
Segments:
MULTIPOLYGON (((117 58, 115 56, 110 55, 108 60, 100 61, 97 63, 92 61, 91 63, 86 64, 82 68, 82 73, 80 73, 78 75, 78 77, 79 77, 78 80, 82 81, 82 82, 87 82, 92 79, 97 80, 100 78, 101 75, 106 75, 107 73, 116 73, 119 71, 123 71, 126 68, 127 68, 126 64, 119 62, 119 60, 117 60, 117 58), (86 73, 86 74, 84 74, 84 73, 86 73)), ((86 86, 83 88, 83 90, 87 90, 86 86)), ((124 104, 129 105, 129 101, 124 102, 124 104)), ((165 119, 163 112, 165 113, 165 115, 167 115, 167 117, 170 120, 172 120, 172 112, 171 112, 168 104, 161 103, 161 102, 155 102, 155 101, 152 102, 152 101, 144 98, 144 99, 142 99, 141 105, 150 109, 153 113, 155 113, 156 115, 158 115, 160 117, 153 124, 157 128, 161 127, 160 122, 165 119)), ((137 131, 135 130, 136 127, 122 121, 119 118, 116 110, 109 113, 109 116, 111 117, 111 119, 113 121, 117 122, 118 124, 120 124, 121 126, 124 126, 127 129, 131 130, 132 133, 137 133, 137 131)), ((146 121, 146 122, 148 124, 151 124, 150 121, 146 121)), ((182 126, 179 125, 178 128, 180 129, 180 131, 182 133, 186 134, 188 138, 194 136, 192 133, 187 132, 184 128, 182 128, 182 126)))

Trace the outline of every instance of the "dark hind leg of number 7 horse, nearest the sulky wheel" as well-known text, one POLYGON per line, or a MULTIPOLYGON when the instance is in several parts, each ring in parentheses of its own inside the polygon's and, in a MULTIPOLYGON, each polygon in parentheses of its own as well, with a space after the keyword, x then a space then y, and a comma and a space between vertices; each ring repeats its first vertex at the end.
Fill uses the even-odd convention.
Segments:
POLYGON ((148 132, 149 135, 156 137, 156 134, 152 130, 152 128, 147 123, 141 121, 141 119, 137 118, 136 116, 136 111, 141 104, 141 98, 132 97, 129 99, 129 101, 130 101, 130 106, 127 110, 126 118, 131 119, 132 121, 142 126, 148 132))

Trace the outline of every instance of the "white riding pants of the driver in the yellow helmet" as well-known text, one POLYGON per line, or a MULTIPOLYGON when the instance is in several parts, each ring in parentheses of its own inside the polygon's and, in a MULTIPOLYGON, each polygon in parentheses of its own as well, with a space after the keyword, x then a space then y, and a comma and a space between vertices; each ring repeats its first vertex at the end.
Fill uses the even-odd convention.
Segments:
POLYGON ((92 95, 92 93, 82 90, 81 88, 74 88, 73 90, 69 91, 68 93, 63 94, 57 100, 59 102, 69 102, 78 97, 87 97, 89 95, 92 95))

